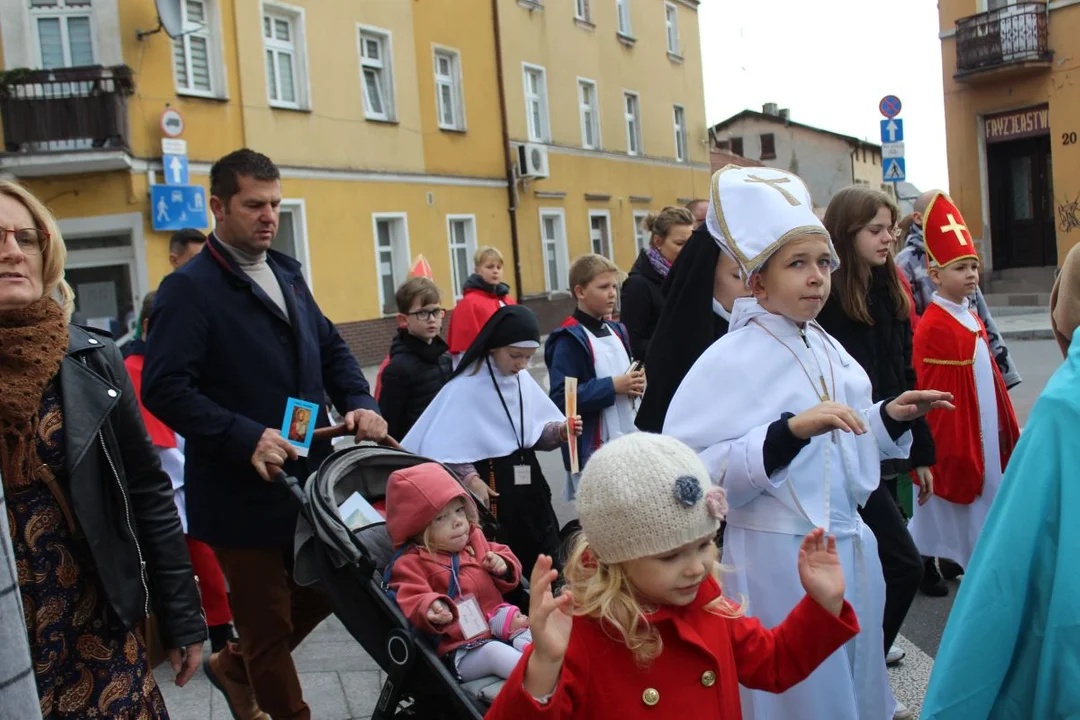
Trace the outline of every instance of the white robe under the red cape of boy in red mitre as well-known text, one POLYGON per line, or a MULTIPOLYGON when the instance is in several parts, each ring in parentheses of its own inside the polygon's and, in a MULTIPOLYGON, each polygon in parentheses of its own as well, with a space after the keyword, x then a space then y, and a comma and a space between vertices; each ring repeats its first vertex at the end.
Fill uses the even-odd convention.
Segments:
MULTIPOLYGON (((947 310, 961 325, 978 332, 978 323, 963 304, 950 302, 940 295, 933 301, 947 310)), ((983 493, 970 505, 951 503, 937 495, 931 495, 926 505, 913 507, 912 520, 907 528, 912 532, 919 553, 927 557, 944 557, 968 567, 975 541, 983 529, 983 522, 990 512, 994 498, 1001 486, 1001 448, 998 441, 998 399, 994 391, 994 359, 982 337, 975 340, 975 393, 978 398, 978 422, 983 436, 983 493)))

